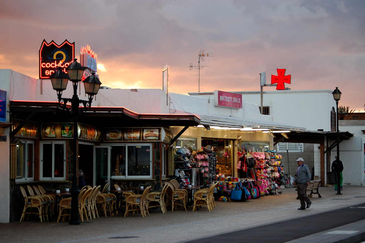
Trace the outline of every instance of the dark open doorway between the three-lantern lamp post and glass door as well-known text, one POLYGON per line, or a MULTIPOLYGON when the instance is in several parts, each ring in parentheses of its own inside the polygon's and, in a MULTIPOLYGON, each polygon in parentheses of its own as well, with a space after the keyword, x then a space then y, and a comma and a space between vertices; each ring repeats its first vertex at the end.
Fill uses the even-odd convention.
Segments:
POLYGON ((78 169, 84 172, 86 185, 93 186, 93 145, 78 144, 78 169))

